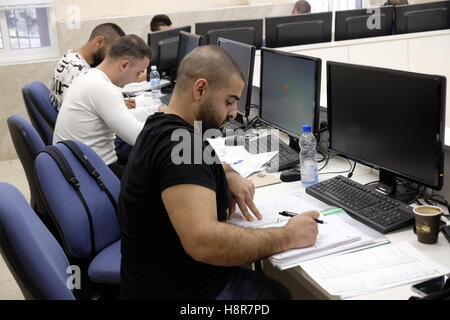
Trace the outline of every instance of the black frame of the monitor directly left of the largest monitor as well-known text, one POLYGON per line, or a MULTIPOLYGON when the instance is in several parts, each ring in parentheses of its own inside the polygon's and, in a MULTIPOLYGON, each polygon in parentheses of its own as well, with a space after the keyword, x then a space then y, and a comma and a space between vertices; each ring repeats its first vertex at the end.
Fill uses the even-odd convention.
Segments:
POLYGON ((286 56, 286 57, 294 57, 294 58, 299 58, 299 59, 306 59, 306 60, 310 60, 313 61, 315 63, 315 68, 314 68, 314 82, 316 84, 316 92, 315 92, 315 105, 314 105, 314 119, 313 119, 313 133, 317 134, 319 131, 319 115, 320 115, 320 89, 321 89, 321 75, 322 75, 322 59, 320 58, 316 58, 316 57, 311 57, 311 56, 305 56, 305 55, 301 55, 301 54, 296 54, 296 53, 292 53, 292 52, 285 52, 285 51, 279 51, 279 50, 275 50, 275 49, 271 49, 271 48, 261 48, 261 68, 260 68, 260 79, 259 79, 259 114, 258 114, 258 118, 259 120, 264 123, 267 124, 271 127, 277 128, 278 130, 280 130, 281 132, 286 133, 288 136, 290 137, 294 137, 296 139, 300 138, 301 133, 296 133, 296 132, 292 132, 288 129, 285 128, 280 128, 278 124, 272 123, 269 120, 263 119, 261 117, 261 113, 263 111, 263 88, 262 88, 262 83, 263 83, 263 65, 264 65, 264 54, 263 52, 271 52, 271 53, 275 53, 275 54, 279 54, 282 56, 286 56))

